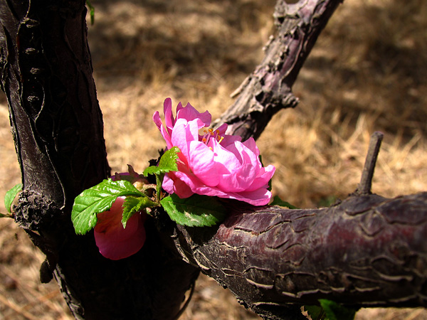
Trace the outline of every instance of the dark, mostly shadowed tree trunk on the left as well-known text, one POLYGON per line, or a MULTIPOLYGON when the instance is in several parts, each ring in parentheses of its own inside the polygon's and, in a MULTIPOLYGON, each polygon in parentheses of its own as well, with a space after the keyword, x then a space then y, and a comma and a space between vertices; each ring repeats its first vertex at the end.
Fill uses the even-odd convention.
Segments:
POLYGON ((85 1, 2 0, 0 14, 1 87, 24 189, 16 221, 46 253, 42 281, 54 273, 78 319, 174 319, 199 271, 171 240, 152 226, 143 250, 113 262, 71 224, 75 196, 110 174, 85 1))

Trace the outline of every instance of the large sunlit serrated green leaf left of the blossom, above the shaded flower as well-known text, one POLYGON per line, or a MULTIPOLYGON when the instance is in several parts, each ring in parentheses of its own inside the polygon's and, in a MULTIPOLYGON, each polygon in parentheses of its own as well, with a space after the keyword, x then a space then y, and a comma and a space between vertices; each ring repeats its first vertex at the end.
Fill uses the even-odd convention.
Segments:
POLYGON ((97 213, 109 210, 112 203, 120 196, 144 196, 129 181, 112 181, 110 178, 88 188, 74 200, 71 220, 73 221, 75 233, 84 235, 95 228, 97 213))

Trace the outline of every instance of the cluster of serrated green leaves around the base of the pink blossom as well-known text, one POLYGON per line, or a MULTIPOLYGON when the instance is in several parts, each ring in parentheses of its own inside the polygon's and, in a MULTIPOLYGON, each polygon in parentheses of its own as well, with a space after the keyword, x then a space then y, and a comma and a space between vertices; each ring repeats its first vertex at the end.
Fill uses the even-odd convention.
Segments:
MULTIPOLYGON (((205 227, 220 223, 226 216, 226 208, 217 198, 194 194, 181 199, 175 194, 164 195, 164 175, 178 170, 179 152, 179 148, 174 146, 164 152, 157 166, 149 166, 144 170, 143 176, 155 176, 155 185, 142 183, 141 187, 141 183, 132 183, 132 178, 117 181, 108 178, 80 193, 75 198, 71 213, 75 233, 84 235, 95 228, 97 214, 110 210, 112 203, 120 196, 126 197, 122 213, 123 228, 126 228, 127 221, 135 213, 145 211, 149 214, 147 208, 158 206, 162 206, 169 217, 179 225, 205 227)), ((131 172, 135 174, 132 167, 131 172)))

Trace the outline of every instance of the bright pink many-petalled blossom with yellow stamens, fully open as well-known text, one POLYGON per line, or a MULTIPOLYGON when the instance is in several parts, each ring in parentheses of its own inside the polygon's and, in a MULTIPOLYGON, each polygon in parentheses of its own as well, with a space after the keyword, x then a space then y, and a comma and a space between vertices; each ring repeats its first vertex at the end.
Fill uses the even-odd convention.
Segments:
POLYGON ((159 112, 153 120, 159 128, 167 148, 178 146, 181 152, 178 171, 169 172, 162 187, 180 198, 194 193, 231 198, 263 206, 270 201, 268 181, 274 174, 272 165, 263 167, 260 151, 253 138, 241 142, 241 137, 226 134, 227 124, 215 131, 209 129, 211 114, 200 113, 190 104, 176 107, 172 114, 172 100, 164 100, 165 127, 159 112))

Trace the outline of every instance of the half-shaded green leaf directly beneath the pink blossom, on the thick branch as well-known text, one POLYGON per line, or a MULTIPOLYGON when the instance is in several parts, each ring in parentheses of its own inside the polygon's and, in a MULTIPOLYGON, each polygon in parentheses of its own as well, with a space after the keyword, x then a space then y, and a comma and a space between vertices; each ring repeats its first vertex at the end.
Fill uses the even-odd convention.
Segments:
POLYGON ((163 198, 160 204, 169 217, 179 225, 209 227, 220 223, 226 216, 226 208, 217 198, 194 194, 185 199, 175 193, 163 198))

